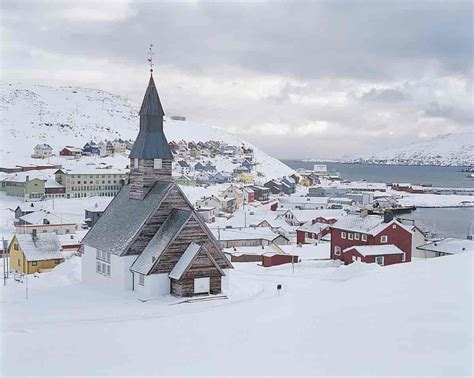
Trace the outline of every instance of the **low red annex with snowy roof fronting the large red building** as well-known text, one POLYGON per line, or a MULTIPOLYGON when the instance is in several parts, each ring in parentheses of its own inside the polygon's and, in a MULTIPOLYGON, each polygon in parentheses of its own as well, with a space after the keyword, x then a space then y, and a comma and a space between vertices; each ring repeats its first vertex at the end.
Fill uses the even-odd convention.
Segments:
POLYGON ((376 263, 381 266, 404 263, 406 254, 393 244, 384 245, 358 245, 346 248, 343 253, 345 265, 354 261, 376 263))

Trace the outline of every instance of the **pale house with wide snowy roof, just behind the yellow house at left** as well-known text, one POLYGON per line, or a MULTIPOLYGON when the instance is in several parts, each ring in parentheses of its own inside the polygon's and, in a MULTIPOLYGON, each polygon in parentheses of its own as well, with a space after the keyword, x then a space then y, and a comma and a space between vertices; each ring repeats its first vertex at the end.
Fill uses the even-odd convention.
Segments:
POLYGON ((76 224, 47 210, 40 209, 21 216, 15 220, 17 234, 33 234, 35 232, 56 234, 72 234, 76 232, 76 224))

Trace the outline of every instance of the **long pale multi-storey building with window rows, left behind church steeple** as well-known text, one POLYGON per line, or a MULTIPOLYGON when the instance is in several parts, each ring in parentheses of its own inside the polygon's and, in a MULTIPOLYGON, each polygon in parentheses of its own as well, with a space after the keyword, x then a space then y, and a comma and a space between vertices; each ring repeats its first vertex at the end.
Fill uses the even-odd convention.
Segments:
POLYGON ((65 187, 67 198, 113 197, 125 185, 128 174, 123 169, 59 169, 56 182, 65 187))

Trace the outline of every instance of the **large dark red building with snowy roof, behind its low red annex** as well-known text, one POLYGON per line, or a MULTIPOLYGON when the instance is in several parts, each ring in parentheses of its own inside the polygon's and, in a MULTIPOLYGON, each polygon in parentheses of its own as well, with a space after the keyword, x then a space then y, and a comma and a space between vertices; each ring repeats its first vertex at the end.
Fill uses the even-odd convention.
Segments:
POLYGON ((344 261, 343 251, 361 245, 395 245, 405 253, 403 261, 409 262, 412 232, 390 213, 384 217, 348 215, 331 226, 331 259, 344 261))

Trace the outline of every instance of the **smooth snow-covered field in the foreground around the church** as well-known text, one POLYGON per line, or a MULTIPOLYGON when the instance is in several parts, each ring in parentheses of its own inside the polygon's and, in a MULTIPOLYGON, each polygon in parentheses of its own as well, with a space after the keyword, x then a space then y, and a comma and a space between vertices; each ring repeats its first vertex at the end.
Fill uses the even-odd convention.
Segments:
POLYGON ((0 374, 472 376, 473 261, 241 263, 229 299, 178 304, 85 286, 76 257, 0 290, 0 374))

